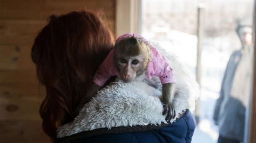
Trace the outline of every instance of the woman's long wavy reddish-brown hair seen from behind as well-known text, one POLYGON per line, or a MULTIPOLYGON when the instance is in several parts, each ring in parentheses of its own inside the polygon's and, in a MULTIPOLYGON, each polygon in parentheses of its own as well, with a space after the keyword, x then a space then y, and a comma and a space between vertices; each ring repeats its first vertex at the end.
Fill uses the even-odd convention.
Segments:
POLYGON ((52 15, 48 21, 34 41, 31 57, 47 93, 40 106, 43 130, 54 139, 56 129, 72 121, 88 102, 89 84, 114 46, 114 38, 89 12, 52 15))

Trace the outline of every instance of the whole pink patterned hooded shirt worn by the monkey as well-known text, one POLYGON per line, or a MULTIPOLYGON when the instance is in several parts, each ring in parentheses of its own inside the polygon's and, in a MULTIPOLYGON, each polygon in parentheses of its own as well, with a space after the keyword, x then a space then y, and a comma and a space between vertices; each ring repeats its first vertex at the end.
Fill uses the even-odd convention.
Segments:
MULTIPOLYGON (((142 39, 144 42, 147 42, 143 37, 141 37, 138 34, 134 34, 135 37, 142 39)), ((116 42, 121 41, 123 38, 133 36, 132 33, 127 33, 124 35, 121 35, 116 42)), ((155 47, 150 45, 150 48, 152 50, 152 60, 147 65, 147 78, 151 79, 154 75, 158 76, 160 78, 160 81, 162 84, 165 83, 175 83, 175 77, 174 77, 174 71, 173 68, 171 68, 168 59, 155 47)), ((99 70, 94 75, 93 82, 99 85, 100 87, 103 87, 107 80, 111 76, 119 76, 119 73, 115 67, 114 63, 114 48, 109 52, 109 55, 106 57, 106 59, 101 63, 99 66, 99 70)))

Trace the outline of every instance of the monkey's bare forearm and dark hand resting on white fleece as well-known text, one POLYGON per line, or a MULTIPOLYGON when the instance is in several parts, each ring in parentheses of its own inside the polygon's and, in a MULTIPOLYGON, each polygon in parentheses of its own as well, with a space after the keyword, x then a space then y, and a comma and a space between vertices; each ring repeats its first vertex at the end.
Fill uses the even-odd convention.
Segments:
POLYGON ((165 83, 162 85, 162 102, 164 103, 163 115, 166 115, 165 120, 174 119, 176 112, 173 105, 174 98, 174 84, 165 83))

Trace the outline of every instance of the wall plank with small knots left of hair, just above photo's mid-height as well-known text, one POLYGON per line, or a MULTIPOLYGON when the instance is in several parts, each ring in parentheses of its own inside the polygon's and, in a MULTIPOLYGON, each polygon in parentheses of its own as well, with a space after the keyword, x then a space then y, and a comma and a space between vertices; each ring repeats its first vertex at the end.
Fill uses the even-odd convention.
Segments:
POLYGON ((31 46, 1 46, 0 70, 35 70, 31 59, 31 46))

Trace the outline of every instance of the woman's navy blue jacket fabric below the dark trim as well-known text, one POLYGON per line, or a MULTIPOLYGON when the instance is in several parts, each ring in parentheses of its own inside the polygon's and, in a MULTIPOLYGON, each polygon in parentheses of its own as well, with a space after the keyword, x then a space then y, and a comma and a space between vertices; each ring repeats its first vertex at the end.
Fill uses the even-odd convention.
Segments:
POLYGON ((176 122, 159 129, 119 134, 77 136, 68 143, 191 143, 196 120, 189 110, 176 122))

